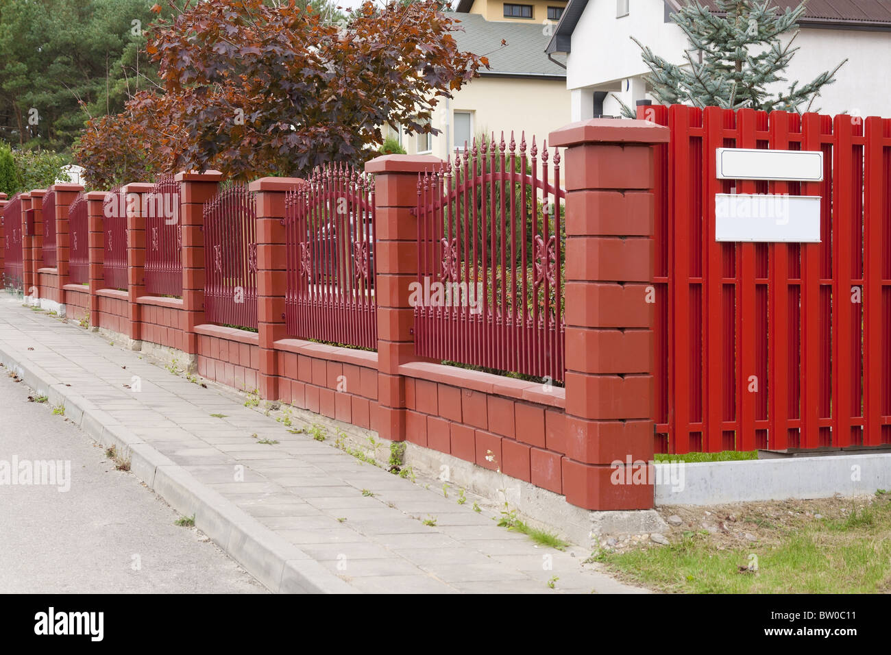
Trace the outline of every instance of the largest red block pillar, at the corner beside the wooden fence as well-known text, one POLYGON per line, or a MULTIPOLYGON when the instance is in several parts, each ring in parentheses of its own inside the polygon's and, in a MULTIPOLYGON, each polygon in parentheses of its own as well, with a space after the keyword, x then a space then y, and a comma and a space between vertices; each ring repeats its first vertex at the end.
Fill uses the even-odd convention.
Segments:
POLYGON ((667 127, 645 120, 592 119, 550 135, 567 148, 563 489, 585 509, 653 507, 650 189, 652 144, 667 141, 667 127), (631 471, 610 465, 629 458, 631 471))

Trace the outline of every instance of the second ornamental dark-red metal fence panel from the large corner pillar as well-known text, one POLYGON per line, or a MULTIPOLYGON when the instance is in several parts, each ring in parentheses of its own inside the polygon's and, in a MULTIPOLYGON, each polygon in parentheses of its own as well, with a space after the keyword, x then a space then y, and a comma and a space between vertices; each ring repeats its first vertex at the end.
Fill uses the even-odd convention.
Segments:
POLYGON ((372 179, 340 165, 316 169, 287 194, 288 333, 378 347, 372 179))

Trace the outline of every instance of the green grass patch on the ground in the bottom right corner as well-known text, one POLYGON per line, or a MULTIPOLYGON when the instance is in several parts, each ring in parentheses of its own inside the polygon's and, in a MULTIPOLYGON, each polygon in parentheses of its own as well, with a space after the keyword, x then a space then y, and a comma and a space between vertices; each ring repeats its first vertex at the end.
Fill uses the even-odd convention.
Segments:
MULTIPOLYGON (((750 523, 758 523, 749 520, 750 523)), ((891 591, 887 495, 838 519, 770 530, 758 543, 718 549, 707 533, 676 543, 593 556, 626 579, 685 594, 876 594, 891 591), (756 563, 756 569, 753 567, 756 563)), ((764 534, 764 533, 762 533, 764 534)))

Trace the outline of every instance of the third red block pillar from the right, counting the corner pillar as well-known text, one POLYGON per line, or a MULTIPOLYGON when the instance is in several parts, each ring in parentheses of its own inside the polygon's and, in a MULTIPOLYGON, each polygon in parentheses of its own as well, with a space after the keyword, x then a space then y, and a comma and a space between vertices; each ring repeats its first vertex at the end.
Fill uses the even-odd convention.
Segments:
POLYGON ((257 192, 257 339, 260 369, 257 389, 265 400, 279 399, 278 360, 274 343, 288 336, 284 325, 288 252, 285 248, 285 192, 302 180, 263 177, 250 184, 257 192))

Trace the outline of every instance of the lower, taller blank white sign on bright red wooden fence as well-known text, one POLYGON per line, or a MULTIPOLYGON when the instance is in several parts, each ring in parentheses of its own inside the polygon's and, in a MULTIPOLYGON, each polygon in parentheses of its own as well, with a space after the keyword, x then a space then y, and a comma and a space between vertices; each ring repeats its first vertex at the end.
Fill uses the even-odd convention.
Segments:
POLYGON ((816 195, 715 194, 715 241, 820 242, 816 195))

